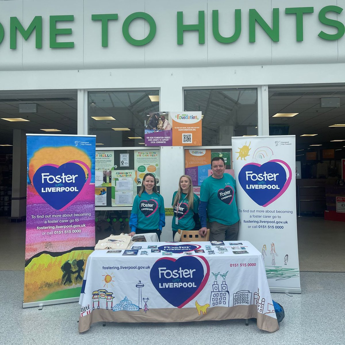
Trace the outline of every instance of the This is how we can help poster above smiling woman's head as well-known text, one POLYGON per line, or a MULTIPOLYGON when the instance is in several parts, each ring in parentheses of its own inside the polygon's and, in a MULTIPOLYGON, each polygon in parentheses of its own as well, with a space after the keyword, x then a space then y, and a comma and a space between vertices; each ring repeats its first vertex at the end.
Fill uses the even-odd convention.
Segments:
POLYGON ((136 150, 134 151, 134 169, 137 172, 137 185, 141 186, 145 174, 150 172, 156 178, 159 186, 160 166, 159 150, 136 150))

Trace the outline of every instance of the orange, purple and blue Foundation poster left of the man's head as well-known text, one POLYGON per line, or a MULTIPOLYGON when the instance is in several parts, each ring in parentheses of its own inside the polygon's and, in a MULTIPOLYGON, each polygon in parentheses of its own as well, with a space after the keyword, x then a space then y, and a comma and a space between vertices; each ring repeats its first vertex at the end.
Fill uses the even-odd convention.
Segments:
POLYGON ((185 150, 185 174, 190 176, 193 186, 201 186, 208 177, 211 166, 211 150, 185 150))

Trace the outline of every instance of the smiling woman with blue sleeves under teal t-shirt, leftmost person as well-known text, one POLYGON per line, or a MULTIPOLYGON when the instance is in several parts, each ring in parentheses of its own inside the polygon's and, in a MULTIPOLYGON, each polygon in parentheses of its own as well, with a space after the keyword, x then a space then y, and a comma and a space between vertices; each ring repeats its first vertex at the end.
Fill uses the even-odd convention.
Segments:
POLYGON ((134 198, 129 218, 130 236, 135 234, 156 233, 158 240, 165 226, 164 199, 158 194, 156 178, 145 174, 139 194, 134 198))

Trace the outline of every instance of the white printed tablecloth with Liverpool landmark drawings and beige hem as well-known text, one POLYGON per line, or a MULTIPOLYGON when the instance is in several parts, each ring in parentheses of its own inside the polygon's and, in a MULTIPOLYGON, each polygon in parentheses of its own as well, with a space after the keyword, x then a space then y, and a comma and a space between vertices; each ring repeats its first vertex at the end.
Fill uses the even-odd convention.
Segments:
POLYGON ((261 329, 279 329, 262 255, 247 241, 137 242, 129 251, 96 250, 87 260, 79 304, 79 332, 100 321, 252 317, 261 329))

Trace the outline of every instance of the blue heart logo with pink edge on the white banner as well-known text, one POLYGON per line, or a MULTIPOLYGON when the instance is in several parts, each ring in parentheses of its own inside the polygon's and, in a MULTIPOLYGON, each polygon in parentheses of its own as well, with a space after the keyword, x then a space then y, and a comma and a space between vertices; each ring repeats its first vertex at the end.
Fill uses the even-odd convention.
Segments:
POLYGON ((239 183, 250 199, 263 207, 272 204, 285 193, 291 178, 291 168, 280 159, 270 160, 263 165, 248 163, 238 174, 239 183))

